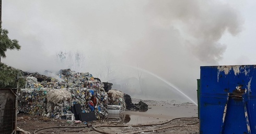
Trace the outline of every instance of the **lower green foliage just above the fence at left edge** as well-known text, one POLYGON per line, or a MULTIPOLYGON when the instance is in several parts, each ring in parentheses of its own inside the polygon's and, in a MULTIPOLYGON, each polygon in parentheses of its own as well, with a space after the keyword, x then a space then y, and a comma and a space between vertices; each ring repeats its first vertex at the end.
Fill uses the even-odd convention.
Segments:
MULTIPOLYGON (((22 76, 20 70, 0 63, 0 88, 17 88, 18 76, 22 76)), ((24 87, 25 78, 19 78, 19 87, 24 87)))

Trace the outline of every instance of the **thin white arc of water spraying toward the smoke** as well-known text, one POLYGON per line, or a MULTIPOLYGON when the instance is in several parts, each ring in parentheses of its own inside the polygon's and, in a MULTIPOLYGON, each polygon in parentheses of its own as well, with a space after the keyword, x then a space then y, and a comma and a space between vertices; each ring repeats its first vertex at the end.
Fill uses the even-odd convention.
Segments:
POLYGON ((179 93, 181 93, 181 95, 183 95, 185 98, 187 98, 188 100, 190 100, 192 103, 194 103, 196 106, 197 106, 197 103, 195 103, 195 101, 193 101, 188 95, 186 95, 183 91, 181 91, 181 89, 179 89, 178 87, 174 86, 173 84, 169 83, 168 81, 166 81, 164 78, 152 73, 152 72, 149 72, 145 69, 141 69, 141 68, 138 68, 138 67, 135 67, 135 66, 131 66, 131 65, 124 65, 122 64, 122 66, 127 66, 129 68, 133 68, 133 69, 137 69, 137 70, 140 70, 140 71, 143 71, 145 73, 148 73, 158 79, 160 79, 161 81, 163 81, 164 83, 168 84, 169 86, 173 87, 176 91, 178 91, 179 93))

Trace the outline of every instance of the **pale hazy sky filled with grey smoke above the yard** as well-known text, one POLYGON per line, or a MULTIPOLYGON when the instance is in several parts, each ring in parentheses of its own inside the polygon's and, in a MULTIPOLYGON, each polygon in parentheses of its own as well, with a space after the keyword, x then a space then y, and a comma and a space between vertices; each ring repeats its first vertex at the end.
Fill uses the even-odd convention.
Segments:
POLYGON ((2 61, 24 71, 59 70, 56 52, 79 50, 82 72, 98 75, 106 61, 112 78, 136 76, 138 67, 195 100, 200 66, 255 64, 255 3, 3 1, 2 27, 21 50, 8 50, 2 61))

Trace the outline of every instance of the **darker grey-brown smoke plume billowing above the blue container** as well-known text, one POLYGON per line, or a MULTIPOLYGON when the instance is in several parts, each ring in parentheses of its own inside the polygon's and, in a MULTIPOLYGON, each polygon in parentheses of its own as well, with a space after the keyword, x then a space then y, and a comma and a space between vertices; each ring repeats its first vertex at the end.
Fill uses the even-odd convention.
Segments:
POLYGON ((241 30, 236 10, 217 1, 153 1, 150 5, 153 21, 177 28, 185 47, 202 62, 217 64, 226 49, 219 39, 224 32, 236 35, 241 30))

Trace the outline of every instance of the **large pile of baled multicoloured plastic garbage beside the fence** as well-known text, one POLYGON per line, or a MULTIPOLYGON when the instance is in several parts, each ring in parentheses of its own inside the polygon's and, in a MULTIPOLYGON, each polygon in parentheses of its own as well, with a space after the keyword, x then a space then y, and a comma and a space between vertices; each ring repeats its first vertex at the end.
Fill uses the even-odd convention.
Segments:
MULTIPOLYGON (((51 72, 48 72, 51 73, 51 72)), ((26 85, 18 96, 19 112, 60 118, 72 114, 72 106, 80 104, 83 113, 107 114, 108 94, 100 79, 90 73, 60 70, 53 77, 27 74, 26 85)))

